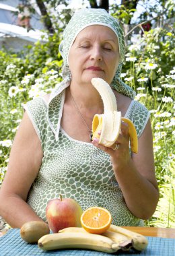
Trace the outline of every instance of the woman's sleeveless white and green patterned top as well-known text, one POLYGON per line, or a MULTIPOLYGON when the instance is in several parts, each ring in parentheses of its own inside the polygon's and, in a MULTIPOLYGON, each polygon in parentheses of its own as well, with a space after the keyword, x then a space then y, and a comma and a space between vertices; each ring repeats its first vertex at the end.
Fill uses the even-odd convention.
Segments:
MULTIPOLYGON (((48 200, 62 194, 75 199, 82 210, 92 206, 105 207, 112 214, 112 224, 143 226, 143 220, 133 216, 125 203, 110 156, 92 143, 69 137, 59 127, 64 99, 65 90, 52 97, 51 104, 43 98, 35 98, 24 105, 44 152, 38 176, 28 194, 28 204, 46 221, 48 200)), ((132 100, 125 117, 133 121, 139 137, 149 112, 132 100)))

